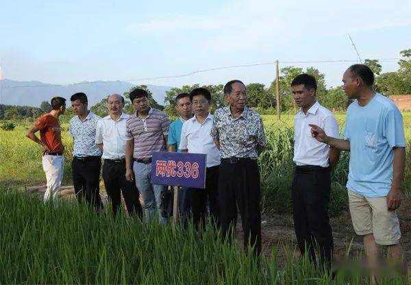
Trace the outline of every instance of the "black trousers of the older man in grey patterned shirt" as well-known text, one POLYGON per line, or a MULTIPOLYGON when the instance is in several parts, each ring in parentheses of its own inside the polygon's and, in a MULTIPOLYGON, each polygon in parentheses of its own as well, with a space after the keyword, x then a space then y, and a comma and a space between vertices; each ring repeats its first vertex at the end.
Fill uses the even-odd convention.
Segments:
POLYGON ((240 210, 244 247, 261 252, 260 171, 257 160, 221 160, 219 177, 220 222, 223 238, 232 240, 240 210))

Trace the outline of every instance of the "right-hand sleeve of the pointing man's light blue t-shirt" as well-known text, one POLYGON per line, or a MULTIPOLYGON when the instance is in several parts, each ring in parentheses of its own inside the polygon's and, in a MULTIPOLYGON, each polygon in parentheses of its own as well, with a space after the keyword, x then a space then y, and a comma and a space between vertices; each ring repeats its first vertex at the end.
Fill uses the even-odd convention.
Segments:
POLYGON ((405 147, 403 118, 397 108, 388 110, 384 124, 384 134, 390 147, 405 147))

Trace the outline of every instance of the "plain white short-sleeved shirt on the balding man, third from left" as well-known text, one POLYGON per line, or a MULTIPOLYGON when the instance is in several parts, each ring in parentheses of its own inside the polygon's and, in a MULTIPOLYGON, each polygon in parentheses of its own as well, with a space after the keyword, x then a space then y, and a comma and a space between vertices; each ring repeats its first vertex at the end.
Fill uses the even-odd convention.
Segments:
POLYGON ((103 156, 101 158, 109 160, 119 160, 125 158, 125 145, 127 137, 125 122, 128 115, 121 114, 119 120, 114 121, 110 115, 105 116, 97 122, 96 144, 103 143, 103 156))

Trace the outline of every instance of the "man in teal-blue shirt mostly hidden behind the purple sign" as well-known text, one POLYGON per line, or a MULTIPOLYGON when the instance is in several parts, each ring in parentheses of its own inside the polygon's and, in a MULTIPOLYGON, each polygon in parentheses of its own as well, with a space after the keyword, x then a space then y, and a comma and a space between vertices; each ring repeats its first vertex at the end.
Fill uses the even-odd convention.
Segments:
MULTIPOLYGON (((173 121, 170 125, 169 138, 167 139, 167 149, 169 151, 178 151, 180 138, 182 136, 182 127, 183 123, 192 117, 192 108, 190 95, 188 93, 181 93, 177 95, 177 111, 180 114, 180 117, 173 121)), ((182 224, 187 225, 187 219, 190 216, 190 193, 188 188, 180 188, 179 195, 179 212, 182 217, 182 224)))

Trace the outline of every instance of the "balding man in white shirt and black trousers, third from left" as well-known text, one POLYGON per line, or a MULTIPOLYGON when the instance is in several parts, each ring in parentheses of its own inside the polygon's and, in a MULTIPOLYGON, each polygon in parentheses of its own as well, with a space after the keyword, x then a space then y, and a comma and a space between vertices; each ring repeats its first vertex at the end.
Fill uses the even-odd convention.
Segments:
POLYGON ((134 182, 125 178, 125 145, 127 137, 125 123, 127 114, 123 113, 124 98, 113 94, 107 99, 110 115, 97 122, 96 145, 103 151, 103 180, 105 190, 112 202, 114 215, 121 205, 121 192, 130 215, 142 216, 140 194, 134 182))

